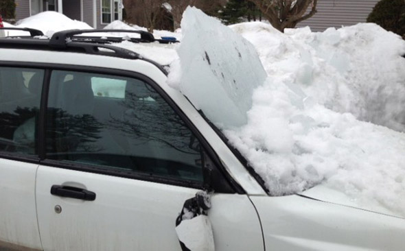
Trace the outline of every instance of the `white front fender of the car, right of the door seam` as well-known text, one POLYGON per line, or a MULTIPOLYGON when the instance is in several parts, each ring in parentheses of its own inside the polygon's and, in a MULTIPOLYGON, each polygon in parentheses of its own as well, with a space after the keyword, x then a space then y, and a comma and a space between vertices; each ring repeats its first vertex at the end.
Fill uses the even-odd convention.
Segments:
POLYGON ((403 250, 405 220, 303 198, 251 196, 266 250, 403 250))

